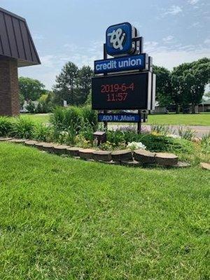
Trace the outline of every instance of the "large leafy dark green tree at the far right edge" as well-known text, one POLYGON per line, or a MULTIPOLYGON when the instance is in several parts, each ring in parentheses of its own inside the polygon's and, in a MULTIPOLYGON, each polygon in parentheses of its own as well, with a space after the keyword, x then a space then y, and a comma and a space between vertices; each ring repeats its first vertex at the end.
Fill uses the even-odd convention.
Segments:
POLYGON ((183 63, 172 71, 172 99, 176 106, 191 104, 192 113, 200 104, 205 86, 210 79, 210 59, 202 58, 195 62, 183 63))

